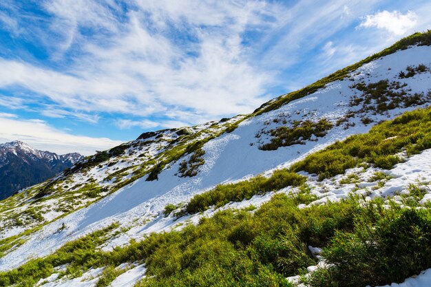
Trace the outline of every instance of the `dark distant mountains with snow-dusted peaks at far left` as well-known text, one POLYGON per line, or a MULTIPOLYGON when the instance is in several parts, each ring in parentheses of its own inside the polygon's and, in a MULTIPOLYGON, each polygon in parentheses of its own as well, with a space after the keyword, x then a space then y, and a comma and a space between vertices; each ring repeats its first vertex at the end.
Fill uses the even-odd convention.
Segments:
POLYGON ((59 156, 39 151, 18 140, 0 144, 0 200, 51 178, 82 158, 79 153, 59 156))

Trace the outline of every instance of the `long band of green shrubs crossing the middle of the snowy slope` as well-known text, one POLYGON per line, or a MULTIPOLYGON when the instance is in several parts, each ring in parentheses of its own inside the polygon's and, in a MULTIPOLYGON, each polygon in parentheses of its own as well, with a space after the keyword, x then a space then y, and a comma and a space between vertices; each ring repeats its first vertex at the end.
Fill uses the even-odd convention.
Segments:
POLYGON ((431 108, 407 112, 402 116, 372 127, 367 134, 350 136, 322 151, 307 156, 289 169, 275 171, 269 178, 257 176, 235 184, 218 185, 215 189, 196 195, 185 206, 187 213, 204 211, 209 206, 221 206, 230 201, 249 199, 253 195, 300 186, 304 177, 296 172, 315 173, 319 179, 330 178, 359 165, 391 169, 401 162, 397 153, 408 155, 431 148, 431 108))

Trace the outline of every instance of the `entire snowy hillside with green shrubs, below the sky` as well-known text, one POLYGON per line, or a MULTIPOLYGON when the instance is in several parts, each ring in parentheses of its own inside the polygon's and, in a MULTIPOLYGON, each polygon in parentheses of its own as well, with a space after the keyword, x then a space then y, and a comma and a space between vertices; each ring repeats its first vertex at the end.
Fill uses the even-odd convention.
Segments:
POLYGON ((0 286, 426 286, 430 84, 428 31, 73 162, 0 202, 0 286))

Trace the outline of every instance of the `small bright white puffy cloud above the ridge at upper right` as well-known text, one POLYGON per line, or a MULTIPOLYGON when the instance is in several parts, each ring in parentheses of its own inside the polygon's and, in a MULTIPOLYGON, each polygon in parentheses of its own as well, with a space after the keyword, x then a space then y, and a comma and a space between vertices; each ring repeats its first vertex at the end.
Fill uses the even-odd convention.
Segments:
POLYGON ((412 11, 402 14, 396 10, 393 12, 384 10, 364 17, 359 27, 384 29, 400 36, 410 32, 416 24, 417 14, 412 11))

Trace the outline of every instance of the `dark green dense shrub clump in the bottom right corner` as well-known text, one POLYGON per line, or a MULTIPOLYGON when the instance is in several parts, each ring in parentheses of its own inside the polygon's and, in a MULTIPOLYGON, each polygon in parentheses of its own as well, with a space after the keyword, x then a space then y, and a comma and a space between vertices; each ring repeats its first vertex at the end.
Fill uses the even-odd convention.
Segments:
POLYGON ((431 213, 390 209, 376 222, 358 221, 353 232, 339 231, 323 255, 333 267, 312 274, 311 286, 385 285, 430 268, 431 213), (317 283, 318 282, 318 283, 317 283))

